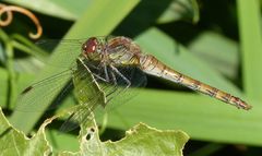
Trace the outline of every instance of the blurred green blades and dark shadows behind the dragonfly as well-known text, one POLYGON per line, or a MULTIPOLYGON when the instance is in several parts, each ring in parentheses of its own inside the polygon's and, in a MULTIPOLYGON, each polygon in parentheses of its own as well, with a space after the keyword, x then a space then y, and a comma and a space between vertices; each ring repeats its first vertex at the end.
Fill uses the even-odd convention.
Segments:
MULTIPOLYGON (((107 129, 102 134, 104 140, 118 140, 123 131, 145 122, 157 129, 187 132, 191 140, 184 147, 184 155, 261 154, 261 0, 1 2, 33 11, 44 29, 40 39, 128 36, 172 69, 253 106, 250 111, 238 110, 180 85, 148 76, 147 86, 139 91, 138 96, 108 115, 107 129)), ((57 58, 59 50, 52 53, 32 51, 37 47, 27 33, 34 32, 35 25, 25 15, 14 13, 13 16, 12 23, 0 29, 0 106, 14 125, 28 133, 37 129, 47 115, 12 113, 17 95, 33 81, 56 74, 58 71, 50 67, 53 62, 67 67, 64 61, 74 58, 57 58), (50 62, 46 63, 49 56, 50 62), (26 122, 21 122, 21 117, 26 122)), ((73 52, 78 56, 79 51, 73 52)), ((73 135, 56 139, 56 124, 51 127, 48 135, 58 140, 57 148, 66 148, 59 142, 70 142, 73 135)), ((78 148, 78 144, 70 148, 78 148)))

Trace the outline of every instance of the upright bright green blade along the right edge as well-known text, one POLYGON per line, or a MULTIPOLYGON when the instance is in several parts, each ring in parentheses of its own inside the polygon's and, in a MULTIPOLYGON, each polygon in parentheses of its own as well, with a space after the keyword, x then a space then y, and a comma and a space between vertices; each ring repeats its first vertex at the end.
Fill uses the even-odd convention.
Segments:
POLYGON ((248 97, 262 100, 262 31, 261 8, 258 0, 237 0, 240 47, 242 52, 243 88, 248 97))

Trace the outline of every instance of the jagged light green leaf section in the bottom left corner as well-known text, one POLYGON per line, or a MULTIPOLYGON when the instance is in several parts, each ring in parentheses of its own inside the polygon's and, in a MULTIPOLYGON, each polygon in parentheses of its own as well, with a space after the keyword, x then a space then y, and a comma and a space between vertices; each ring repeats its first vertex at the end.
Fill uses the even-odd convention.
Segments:
POLYGON ((15 130, 4 118, 0 108, 0 151, 1 155, 40 156, 49 155, 51 148, 46 141, 44 127, 32 137, 15 130))

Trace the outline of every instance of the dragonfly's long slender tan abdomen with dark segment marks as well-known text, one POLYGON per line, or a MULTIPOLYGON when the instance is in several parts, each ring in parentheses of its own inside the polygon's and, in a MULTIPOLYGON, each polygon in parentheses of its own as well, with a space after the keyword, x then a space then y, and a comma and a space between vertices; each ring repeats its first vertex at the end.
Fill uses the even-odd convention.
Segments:
POLYGON ((203 94, 206 94, 211 97, 217 98, 224 103, 230 104, 236 106, 237 108, 242 108, 242 109, 250 109, 251 106, 246 104, 243 100, 241 100, 238 97, 235 97, 228 93, 225 93, 218 88, 215 88, 213 86, 210 86, 207 84, 204 84, 198 80, 194 80, 192 77, 189 77, 187 75, 183 75, 160 61, 158 61, 155 57, 153 56, 143 56, 143 58, 140 60, 141 69, 146 72, 147 74, 159 76, 167 79, 171 82, 182 84, 193 91, 201 92, 203 94))

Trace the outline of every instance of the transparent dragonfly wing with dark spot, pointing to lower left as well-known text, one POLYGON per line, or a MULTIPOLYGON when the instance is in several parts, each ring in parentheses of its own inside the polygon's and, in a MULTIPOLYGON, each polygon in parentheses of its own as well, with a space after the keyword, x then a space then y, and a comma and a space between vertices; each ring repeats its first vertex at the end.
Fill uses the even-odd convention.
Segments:
POLYGON ((43 111, 52 109, 68 95, 67 93, 72 88, 72 71, 67 70, 53 76, 45 79, 40 82, 26 87, 17 98, 17 111, 43 111), (43 100, 48 106, 43 106, 43 100), (51 107, 50 105, 53 104, 51 107))

